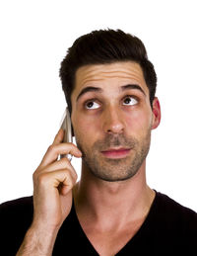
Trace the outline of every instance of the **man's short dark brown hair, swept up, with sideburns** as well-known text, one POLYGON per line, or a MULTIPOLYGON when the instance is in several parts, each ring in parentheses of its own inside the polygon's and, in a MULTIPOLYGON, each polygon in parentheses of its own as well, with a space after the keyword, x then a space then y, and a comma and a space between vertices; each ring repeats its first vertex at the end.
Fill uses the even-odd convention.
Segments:
POLYGON ((108 64, 129 60, 140 64, 149 88, 150 104, 153 107, 157 75, 154 65, 148 59, 144 43, 121 30, 107 29, 93 31, 77 39, 68 48, 67 55, 61 62, 59 76, 70 113, 72 112, 71 94, 75 87, 75 75, 78 68, 90 64, 108 64))

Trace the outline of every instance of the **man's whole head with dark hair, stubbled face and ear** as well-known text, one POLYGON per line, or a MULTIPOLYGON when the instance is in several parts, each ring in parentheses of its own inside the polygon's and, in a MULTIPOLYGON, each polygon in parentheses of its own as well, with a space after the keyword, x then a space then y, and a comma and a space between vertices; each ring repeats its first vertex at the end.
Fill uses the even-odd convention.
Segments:
POLYGON ((84 170, 105 181, 134 176, 160 124, 143 43, 121 31, 94 32, 69 49, 60 74, 84 170))

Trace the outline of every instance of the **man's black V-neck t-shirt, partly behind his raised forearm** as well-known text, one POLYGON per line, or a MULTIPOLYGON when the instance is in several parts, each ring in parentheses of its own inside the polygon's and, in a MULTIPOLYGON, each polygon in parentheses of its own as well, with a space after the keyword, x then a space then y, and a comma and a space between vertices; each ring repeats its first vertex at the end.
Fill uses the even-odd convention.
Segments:
MULTIPOLYGON (((14 256, 33 220, 33 197, 0 206, 0 255, 14 256)), ((77 218, 74 204, 63 222, 53 256, 99 255, 77 218)), ((197 255, 197 213, 157 192, 144 223, 116 255, 197 255)))

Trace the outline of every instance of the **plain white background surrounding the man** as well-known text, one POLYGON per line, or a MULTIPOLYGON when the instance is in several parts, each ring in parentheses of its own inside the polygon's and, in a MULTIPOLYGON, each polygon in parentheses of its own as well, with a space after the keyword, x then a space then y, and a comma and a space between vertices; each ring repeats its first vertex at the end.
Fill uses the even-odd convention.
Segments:
MULTIPOLYGON (((66 50, 97 29, 139 37, 158 74, 161 126, 149 185, 197 211, 196 1, 0 2, 0 202, 32 195, 32 174, 65 109, 58 77, 66 50)), ((73 160, 80 175, 80 162, 73 160)))

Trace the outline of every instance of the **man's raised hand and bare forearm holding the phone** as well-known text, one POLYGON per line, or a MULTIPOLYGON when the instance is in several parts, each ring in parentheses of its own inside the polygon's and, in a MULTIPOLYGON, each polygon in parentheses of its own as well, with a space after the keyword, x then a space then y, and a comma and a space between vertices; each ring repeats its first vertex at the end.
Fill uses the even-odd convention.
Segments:
POLYGON ((57 232, 70 213, 77 174, 66 157, 58 160, 58 156, 81 157, 82 153, 73 143, 62 143, 63 137, 60 129, 33 173, 33 223, 17 255, 50 255, 57 232), (33 248, 37 244, 39 248, 33 248))

